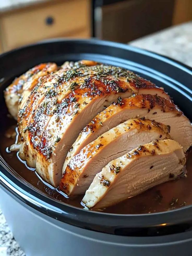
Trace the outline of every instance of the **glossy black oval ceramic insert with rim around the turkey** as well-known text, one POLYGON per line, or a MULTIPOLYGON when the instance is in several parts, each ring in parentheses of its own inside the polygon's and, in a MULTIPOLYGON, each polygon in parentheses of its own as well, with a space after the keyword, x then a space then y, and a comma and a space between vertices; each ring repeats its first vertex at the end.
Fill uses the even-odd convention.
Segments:
MULTIPOLYGON (((0 56, 0 105, 3 90, 18 75, 41 62, 95 61, 123 67, 153 81, 174 98, 192 121, 192 69, 172 59, 128 45, 99 40, 54 39, 19 48, 0 56)), ((1 117, 1 126, 4 119, 1 117)), ((25 182, 0 156, 0 184, 25 207, 34 208, 68 224, 116 235, 156 236, 190 230, 192 206, 162 213, 115 215, 88 211, 53 200, 25 182), (167 223, 166 227, 160 224, 167 223)))

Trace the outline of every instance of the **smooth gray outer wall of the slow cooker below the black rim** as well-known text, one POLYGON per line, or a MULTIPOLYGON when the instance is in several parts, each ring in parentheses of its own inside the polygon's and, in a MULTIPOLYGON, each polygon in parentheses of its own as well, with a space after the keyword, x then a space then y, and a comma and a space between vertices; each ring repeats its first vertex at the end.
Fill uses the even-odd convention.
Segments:
POLYGON ((0 204, 27 256, 191 256, 192 231, 160 237, 127 237, 68 225, 23 205, 0 189, 0 204))

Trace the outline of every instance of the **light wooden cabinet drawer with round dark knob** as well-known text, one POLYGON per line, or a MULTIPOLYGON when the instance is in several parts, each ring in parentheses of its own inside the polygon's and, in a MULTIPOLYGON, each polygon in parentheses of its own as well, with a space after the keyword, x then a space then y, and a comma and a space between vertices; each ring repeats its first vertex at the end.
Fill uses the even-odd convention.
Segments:
POLYGON ((2 50, 52 37, 88 38, 90 13, 88 0, 63 0, 1 14, 2 50))

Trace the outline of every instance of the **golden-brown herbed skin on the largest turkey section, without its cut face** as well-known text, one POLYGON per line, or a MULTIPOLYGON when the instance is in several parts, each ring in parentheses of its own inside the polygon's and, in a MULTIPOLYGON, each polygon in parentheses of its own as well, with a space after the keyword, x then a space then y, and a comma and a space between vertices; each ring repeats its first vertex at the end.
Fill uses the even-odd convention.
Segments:
POLYGON ((35 167, 38 152, 42 173, 47 173, 50 165, 47 160, 57 148, 58 138, 62 138, 71 120, 75 120, 74 114, 78 116, 87 104, 87 108, 91 107, 92 100, 124 92, 129 92, 126 96, 129 97, 146 90, 169 97, 163 89, 126 69, 87 60, 68 63, 63 69, 44 76, 19 110, 20 157, 35 167))

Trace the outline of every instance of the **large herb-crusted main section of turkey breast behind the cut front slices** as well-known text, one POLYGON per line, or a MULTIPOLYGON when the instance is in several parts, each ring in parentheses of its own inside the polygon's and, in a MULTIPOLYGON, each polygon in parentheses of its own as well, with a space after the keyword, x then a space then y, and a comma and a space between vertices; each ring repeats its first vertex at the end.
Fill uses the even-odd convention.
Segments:
POLYGON ((65 68, 36 85, 19 112, 19 155, 54 186, 71 144, 104 106, 132 93, 169 98, 163 89, 122 68, 90 61, 65 68))

